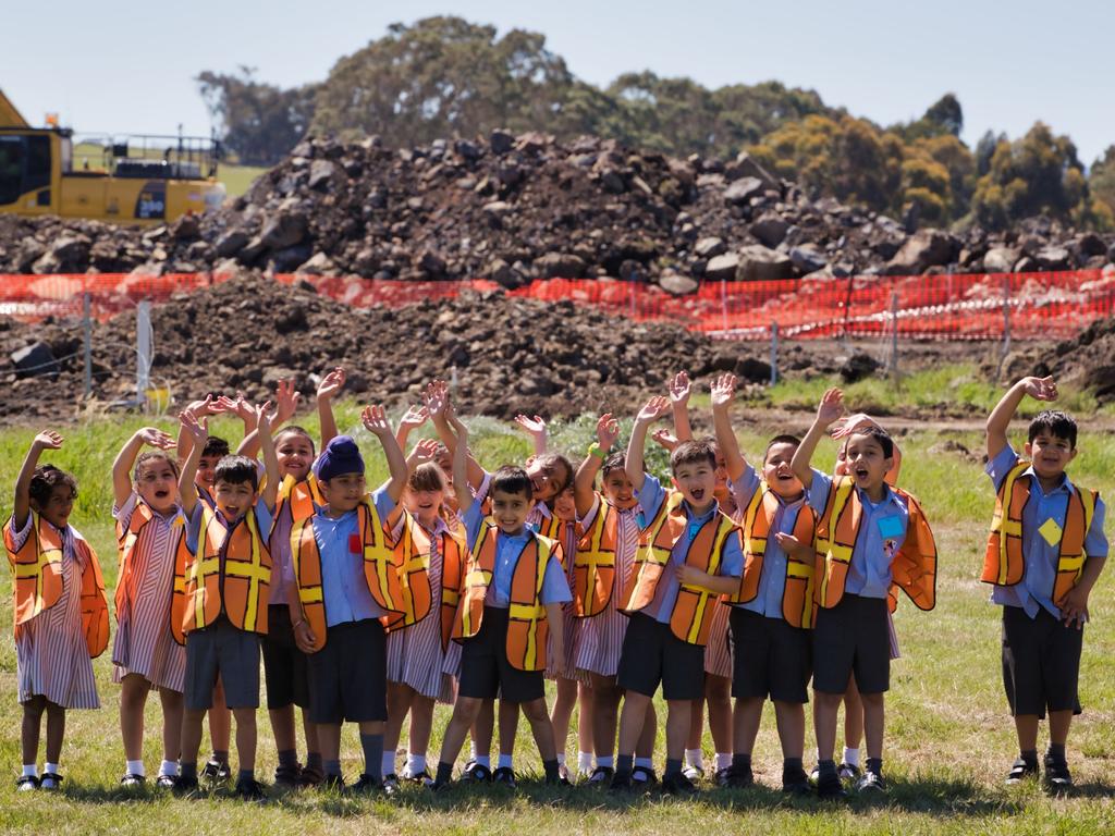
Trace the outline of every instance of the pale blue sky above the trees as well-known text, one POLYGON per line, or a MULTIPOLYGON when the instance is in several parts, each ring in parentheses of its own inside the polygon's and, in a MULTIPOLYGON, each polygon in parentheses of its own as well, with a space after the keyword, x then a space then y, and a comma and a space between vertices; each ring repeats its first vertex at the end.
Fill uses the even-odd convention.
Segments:
POLYGON ((882 124, 951 90, 969 145, 987 128, 1017 137, 1036 119, 1072 136, 1086 165, 1115 144, 1109 0, 6 2, 0 88, 35 125, 58 111, 79 133, 182 123, 207 134, 193 81, 202 70, 245 64, 282 86, 320 80, 388 23, 449 13, 541 31, 593 84, 641 69, 709 87, 773 78, 882 124))

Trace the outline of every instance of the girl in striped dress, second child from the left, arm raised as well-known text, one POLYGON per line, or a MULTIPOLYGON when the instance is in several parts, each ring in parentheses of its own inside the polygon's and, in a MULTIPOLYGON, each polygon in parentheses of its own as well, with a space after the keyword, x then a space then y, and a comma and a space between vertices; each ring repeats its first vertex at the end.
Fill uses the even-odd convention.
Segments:
POLYGON ((163 764, 156 785, 174 787, 182 740, 186 650, 185 568, 190 552, 178 508, 174 439, 155 427, 136 430, 113 463, 113 517, 119 544, 113 681, 120 683, 125 787, 146 782, 144 707, 158 690, 163 708, 163 764), (153 449, 140 453, 144 447, 153 449))

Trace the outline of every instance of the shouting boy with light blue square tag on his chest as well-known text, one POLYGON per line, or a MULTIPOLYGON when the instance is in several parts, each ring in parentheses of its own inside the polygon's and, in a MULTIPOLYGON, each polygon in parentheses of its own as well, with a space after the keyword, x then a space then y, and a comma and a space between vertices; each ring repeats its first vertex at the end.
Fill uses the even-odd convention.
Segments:
POLYGON ((894 443, 878 426, 847 437, 849 475, 835 479, 809 466, 817 443, 844 412, 840 389, 821 399, 792 467, 817 514, 813 628, 817 795, 845 795, 833 759, 841 699, 855 675, 867 741, 860 791, 885 791, 884 694, 890 688, 888 609, 901 589, 922 610, 935 603, 937 547, 918 500, 886 484, 894 443))

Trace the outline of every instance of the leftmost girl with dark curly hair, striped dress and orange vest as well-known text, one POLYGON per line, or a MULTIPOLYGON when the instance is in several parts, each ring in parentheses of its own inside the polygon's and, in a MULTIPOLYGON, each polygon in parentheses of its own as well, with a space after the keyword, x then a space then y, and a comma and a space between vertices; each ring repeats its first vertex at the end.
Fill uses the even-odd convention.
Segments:
POLYGON ((3 543, 12 573, 16 682, 23 707, 20 790, 58 789, 66 710, 100 708, 93 659, 108 645, 108 601, 97 554, 69 524, 77 483, 43 450, 62 437, 39 432, 16 478, 3 543), (47 715, 47 760, 38 775, 39 735, 47 715))

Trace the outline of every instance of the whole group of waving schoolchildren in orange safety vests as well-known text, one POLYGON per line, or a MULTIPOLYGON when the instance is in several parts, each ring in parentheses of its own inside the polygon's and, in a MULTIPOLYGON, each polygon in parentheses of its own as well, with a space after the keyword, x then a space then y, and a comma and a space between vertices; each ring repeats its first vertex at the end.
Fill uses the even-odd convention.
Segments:
MULTIPOLYGON (((534 455, 488 473, 468 448, 448 387, 434 381, 395 431, 382 407, 361 414, 389 470, 369 490, 361 451, 338 435, 332 415, 343 383, 345 371, 334 369, 318 388, 320 454, 289 424, 300 396, 283 382, 274 405, 242 397, 191 404, 177 440, 144 428, 116 457, 112 658, 122 687, 123 785, 147 780, 144 707, 157 689, 156 784, 188 794, 200 778, 229 777, 231 712, 235 790, 262 797, 254 771, 262 653, 275 782, 290 787, 390 793, 410 779, 439 790, 454 780, 466 736, 473 750, 458 780, 514 786, 522 709, 547 782, 580 778, 615 791, 660 784, 689 795, 704 774, 705 707, 716 784, 746 787, 769 699, 785 791, 836 798, 845 781, 862 793, 886 790, 884 694, 898 654, 891 612, 900 590, 921 610, 934 606, 937 548, 921 505, 896 486, 893 439, 864 415, 845 417, 838 390, 825 392, 804 438, 775 436, 752 464, 729 415, 735 378, 712 382, 715 438, 694 438, 690 381, 680 372, 669 397, 650 398, 639 411, 626 453, 615 448, 619 422, 610 414, 575 468, 546 449, 541 418, 520 416, 534 455), (216 414, 244 422, 235 455, 209 435, 216 414), (670 450, 667 483, 646 472, 643 448, 668 414, 673 434, 652 434, 670 450), (426 421, 438 440, 409 445, 426 421), (840 445, 833 475, 811 466, 830 432, 840 445), (555 681, 552 709, 545 679, 555 681), (811 680, 812 776, 803 761, 811 680), (659 688, 667 712, 660 781, 651 760, 659 688), (429 768, 437 702, 453 712, 429 768), (847 745, 837 762, 842 702, 847 745), (574 770, 564 750, 575 707, 574 770), (206 712, 214 757, 198 770, 206 712), (358 725, 363 754, 363 771, 349 787, 340 768, 345 722, 358 725)), ((1019 741, 1008 781, 1039 772, 1038 722, 1048 710, 1044 774, 1063 789, 1072 785, 1065 742, 1079 711, 1082 628, 1107 542, 1103 503, 1065 475, 1076 455, 1072 418, 1043 411, 1025 457, 1010 447, 1007 428, 1027 395, 1053 400, 1056 385, 1019 381, 987 424, 997 499, 982 580, 1002 605, 1004 683, 1019 741)), ((97 555, 68 522, 77 485, 39 464, 61 445, 56 432, 36 436, 3 528, 23 706, 17 784, 25 790, 59 786, 66 710, 98 707, 91 659, 109 635, 97 555)))

